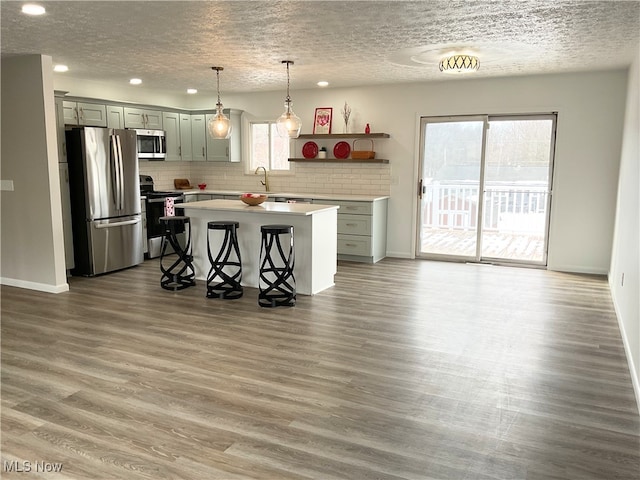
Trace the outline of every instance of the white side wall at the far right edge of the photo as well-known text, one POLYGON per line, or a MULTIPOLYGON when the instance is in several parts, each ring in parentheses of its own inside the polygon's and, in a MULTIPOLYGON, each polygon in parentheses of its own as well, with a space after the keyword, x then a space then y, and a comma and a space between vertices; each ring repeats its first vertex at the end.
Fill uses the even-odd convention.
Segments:
POLYGON ((640 51, 629 69, 609 285, 640 410, 640 51), (624 275, 624 282, 623 282, 624 275))

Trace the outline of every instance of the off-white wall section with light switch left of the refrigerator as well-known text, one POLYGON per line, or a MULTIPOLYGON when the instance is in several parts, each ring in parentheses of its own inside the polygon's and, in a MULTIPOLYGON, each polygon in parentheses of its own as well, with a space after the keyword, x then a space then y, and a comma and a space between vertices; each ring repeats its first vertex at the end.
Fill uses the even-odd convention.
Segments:
POLYGON ((5 285, 69 289, 51 57, 2 60, 2 271, 5 285))

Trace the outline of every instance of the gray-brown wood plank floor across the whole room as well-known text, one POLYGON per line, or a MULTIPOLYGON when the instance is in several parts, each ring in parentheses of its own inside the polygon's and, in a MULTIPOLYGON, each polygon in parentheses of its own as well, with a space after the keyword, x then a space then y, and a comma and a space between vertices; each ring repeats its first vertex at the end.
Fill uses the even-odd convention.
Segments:
POLYGON ((341 262, 276 309, 155 260, 70 287, 2 287, 3 479, 640 478, 601 277, 341 262))

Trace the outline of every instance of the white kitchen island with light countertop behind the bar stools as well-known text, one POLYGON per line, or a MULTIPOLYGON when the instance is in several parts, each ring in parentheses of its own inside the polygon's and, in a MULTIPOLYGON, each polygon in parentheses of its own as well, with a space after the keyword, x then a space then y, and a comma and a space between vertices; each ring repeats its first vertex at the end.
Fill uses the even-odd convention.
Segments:
POLYGON ((271 224, 293 225, 293 271, 297 293, 313 295, 333 286, 337 270, 338 206, 265 202, 251 207, 240 200, 204 200, 184 203, 180 208, 191 218, 193 264, 198 280, 206 281, 210 268, 207 223, 233 220, 240 222, 238 244, 242 255, 244 286, 258 287, 260 227, 271 224))

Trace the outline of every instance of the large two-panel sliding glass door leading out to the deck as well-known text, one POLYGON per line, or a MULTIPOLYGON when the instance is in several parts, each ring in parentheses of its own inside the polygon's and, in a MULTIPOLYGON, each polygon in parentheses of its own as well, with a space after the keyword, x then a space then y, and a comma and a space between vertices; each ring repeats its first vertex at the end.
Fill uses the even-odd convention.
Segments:
POLYGON ((417 255, 546 265, 555 115, 423 118, 417 255))

